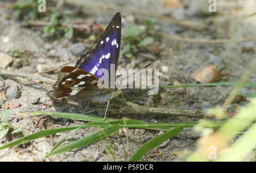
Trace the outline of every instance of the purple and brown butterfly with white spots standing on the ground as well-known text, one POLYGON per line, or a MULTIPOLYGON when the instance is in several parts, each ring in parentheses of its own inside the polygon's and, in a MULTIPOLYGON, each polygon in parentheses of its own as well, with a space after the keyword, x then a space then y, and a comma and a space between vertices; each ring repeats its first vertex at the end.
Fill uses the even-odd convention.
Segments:
MULTIPOLYGON (((121 14, 117 12, 110 21, 105 31, 96 39, 89 49, 77 60, 75 67, 64 66, 58 76, 57 81, 52 86, 53 90, 47 95, 51 98, 61 98, 69 96, 75 100, 90 101, 92 103, 108 102, 117 96, 121 91, 117 88, 98 87, 98 82, 103 86, 98 75, 99 69, 107 69, 114 64, 114 73, 117 71, 119 50, 121 45, 121 14)), ((115 76, 115 74, 114 74, 115 76)), ((104 120, 106 117, 106 112, 104 120)))

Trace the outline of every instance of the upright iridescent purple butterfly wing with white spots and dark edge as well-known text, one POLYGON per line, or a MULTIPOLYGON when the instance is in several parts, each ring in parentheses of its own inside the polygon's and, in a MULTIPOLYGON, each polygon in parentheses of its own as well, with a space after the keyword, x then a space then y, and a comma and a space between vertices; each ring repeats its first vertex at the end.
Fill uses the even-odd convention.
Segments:
POLYGON ((109 26, 94 41, 90 48, 81 55, 76 62, 76 67, 94 74, 97 78, 99 69, 107 69, 110 77, 110 64, 115 65, 117 70, 119 50, 121 43, 121 14, 117 12, 109 26))

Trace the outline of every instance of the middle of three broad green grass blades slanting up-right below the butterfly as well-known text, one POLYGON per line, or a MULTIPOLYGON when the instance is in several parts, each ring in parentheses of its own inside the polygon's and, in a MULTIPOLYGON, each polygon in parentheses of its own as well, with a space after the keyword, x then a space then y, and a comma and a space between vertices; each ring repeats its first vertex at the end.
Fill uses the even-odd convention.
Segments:
POLYGON ((60 154, 66 151, 71 151, 73 149, 77 149, 79 147, 83 147, 85 145, 92 144, 93 142, 102 140, 103 138, 108 137, 110 134, 117 132, 117 130, 120 128, 120 125, 111 125, 108 128, 104 128, 99 130, 98 132, 94 132, 92 134, 89 134, 77 141, 71 142, 65 146, 60 147, 59 149, 54 150, 53 152, 47 154, 46 157, 49 157, 53 154, 60 154))

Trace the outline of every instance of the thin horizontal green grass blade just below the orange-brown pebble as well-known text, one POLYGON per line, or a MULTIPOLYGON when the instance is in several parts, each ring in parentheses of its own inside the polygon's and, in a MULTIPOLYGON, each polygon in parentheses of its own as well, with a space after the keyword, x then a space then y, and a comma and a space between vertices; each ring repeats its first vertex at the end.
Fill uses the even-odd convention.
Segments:
MULTIPOLYGON (((237 82, 215 82, 215 83, 198 83, 198 84, 191 84, 191 85, 163 85, 159 86, 160 88, 179 88, 179 87, 199 87, 199 86, 233 86, 237 85, 237 82)), ((243 86, 256 88, 255 83, 244 83, 243 86)))

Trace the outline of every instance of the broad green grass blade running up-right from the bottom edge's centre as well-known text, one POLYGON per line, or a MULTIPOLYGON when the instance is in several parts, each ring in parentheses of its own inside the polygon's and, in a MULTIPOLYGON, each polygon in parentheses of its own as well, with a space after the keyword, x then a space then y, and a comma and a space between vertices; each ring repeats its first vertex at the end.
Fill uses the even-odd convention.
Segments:
POLYGON ((168 138, 175 136, 176 134, 180 133, 184 129, 184 125, 177 126, 174 129, 169 130, 159 136, 152 138, 152 140, 147 141, 143 144, 139 149, 133 154, 130 158, 130 162, 137 162, 139 161, 147 151, 154 149, 154 147, 160 145, 162 142, 166 141, 168 138))

